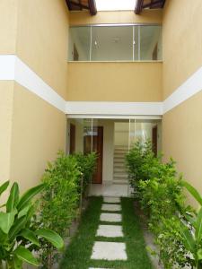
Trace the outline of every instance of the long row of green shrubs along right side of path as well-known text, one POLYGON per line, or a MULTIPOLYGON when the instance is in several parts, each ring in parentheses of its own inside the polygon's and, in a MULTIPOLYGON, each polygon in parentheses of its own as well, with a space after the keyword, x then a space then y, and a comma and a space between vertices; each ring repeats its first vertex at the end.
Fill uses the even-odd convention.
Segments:
POLYGON ((192 265, 178 216, 185 218, 193 210, 185 205, 184 183, 177 175, 175 162, 162 163, 161 156, 154 156, 150 141, 137 142, 127 154, 127 171, 131 187, 148 216, 164 267, 192 265))

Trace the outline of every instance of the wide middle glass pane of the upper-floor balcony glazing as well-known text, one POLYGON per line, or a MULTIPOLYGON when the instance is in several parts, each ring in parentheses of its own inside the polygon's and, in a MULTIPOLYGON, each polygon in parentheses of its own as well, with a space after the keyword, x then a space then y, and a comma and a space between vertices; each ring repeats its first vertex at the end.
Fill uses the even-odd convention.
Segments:
POLYGON ((132 61, 133 27, 92 27, 92 61, 132 61))

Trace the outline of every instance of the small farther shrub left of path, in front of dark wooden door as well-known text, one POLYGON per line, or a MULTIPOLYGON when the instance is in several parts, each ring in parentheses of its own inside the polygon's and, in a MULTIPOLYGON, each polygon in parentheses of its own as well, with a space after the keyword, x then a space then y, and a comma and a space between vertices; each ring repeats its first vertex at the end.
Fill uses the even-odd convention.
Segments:
POLYGON ((97 155, 95 152, 89 154, 77 153, 75 154, 75 159, 78 168, 83 174, 83 193, 85 193, 95 170, 97 155))

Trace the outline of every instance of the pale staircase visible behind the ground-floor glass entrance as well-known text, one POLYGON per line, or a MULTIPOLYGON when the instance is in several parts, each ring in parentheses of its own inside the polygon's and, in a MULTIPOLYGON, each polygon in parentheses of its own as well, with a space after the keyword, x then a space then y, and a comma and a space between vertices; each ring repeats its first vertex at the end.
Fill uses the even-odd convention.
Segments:
POLYGON ((115 146, 113 184, 123 184, 123 185, 128 184, 127 171, 125 165, 126 154, 127 154, 127 147, 115 146))

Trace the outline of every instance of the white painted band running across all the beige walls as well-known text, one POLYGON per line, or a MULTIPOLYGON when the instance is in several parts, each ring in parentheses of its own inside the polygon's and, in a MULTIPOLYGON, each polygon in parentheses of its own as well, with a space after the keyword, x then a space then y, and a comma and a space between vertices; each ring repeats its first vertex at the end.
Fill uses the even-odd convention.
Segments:
POLYGON ((202 91, 202 67, 163 102, 66 101, 15 55, 0 55, 0 81, 15 81, 70 117, 160 117, 202 91))

